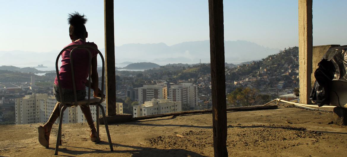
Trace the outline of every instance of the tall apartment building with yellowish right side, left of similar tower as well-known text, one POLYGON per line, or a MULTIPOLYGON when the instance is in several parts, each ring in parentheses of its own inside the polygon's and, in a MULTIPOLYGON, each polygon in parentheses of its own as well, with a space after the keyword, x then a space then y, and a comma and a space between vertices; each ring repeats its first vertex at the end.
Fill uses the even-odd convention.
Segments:
POLYGON ((156 85, 143 85, 138 88, 138 102, 143 104, 145 101, 155 99, 167 99, 167 86, 164 83, 156 85))

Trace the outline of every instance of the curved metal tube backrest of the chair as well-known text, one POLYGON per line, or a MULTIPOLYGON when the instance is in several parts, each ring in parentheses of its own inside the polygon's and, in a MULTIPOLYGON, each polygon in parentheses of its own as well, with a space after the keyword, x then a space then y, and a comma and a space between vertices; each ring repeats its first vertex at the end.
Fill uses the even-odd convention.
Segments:
MULTIPOLYGON (((71 46, 67 46, 64 49, 62 49, 59 53, 59 55, 57 56, 57 60, 56 60, 56 72, 57 72, 57 80, 58 80, 58 87, 59 87, 59 93, 60 93, 60 103, 62 103, 63 105, 66 104, 65 100, 64 100, 64 96, 62 96, 62 90, 61 90, 61 84, 60 84, 60 76, 59 76, 59 67, 58 67, 58 62, 59 62, 59 58, 61 56, 61 54, 68 50, 68 49, 72 49, 70 52, 70 64, 71 64, 71 76, 72 76, 72 83, 73 83, 73 89, 74 89, 74 96, 75 96, 75 104, 77 104, 77 94, 76 94, 76 84, 75 84, 75 73, 74 73, 74 68, 73 68, 73 57, 72 54, 73 52, 75 52, 78 49, 85 49, 88 52, 89 55, 89 62, 88 62, 88 104, 90 104, 90 88, 91 88, 91 65, 92 65, 92 53, 90 51, 90 49, 95 50, 96 52, 99 53, 101 60, 102 60, 102 71, 101 71, 101 99, 99 103, 103 102, 103 91, 104 91, 104 72, 105 72, 105 60, 103 58, 102 53, 96 49, 96 47, 92 46, 92 45, 71 45, 71 46)), ((98 76, 99 77, 99 76, 98 76)), ((96 89, 97 90, 97 89, 96 89)))

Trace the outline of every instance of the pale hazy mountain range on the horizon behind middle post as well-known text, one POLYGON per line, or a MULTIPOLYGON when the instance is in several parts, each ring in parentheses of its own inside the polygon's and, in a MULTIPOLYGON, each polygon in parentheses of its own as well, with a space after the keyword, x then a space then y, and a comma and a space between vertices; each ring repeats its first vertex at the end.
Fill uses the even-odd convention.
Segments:
MULTIPOLYGON (((234 64, 260 60, 279 52, 279 49, 271 49, 249 41, 225 41, 224 44, 225 62, 234 64)), ((205 63, 210 62, 209 40, 183 42, 171 46, 164 43, 124 44, 116 46, 115 49, 116 62, 153 62, 161 65, 168 63, 194 64, 199 63, 200 59, 205 63)))

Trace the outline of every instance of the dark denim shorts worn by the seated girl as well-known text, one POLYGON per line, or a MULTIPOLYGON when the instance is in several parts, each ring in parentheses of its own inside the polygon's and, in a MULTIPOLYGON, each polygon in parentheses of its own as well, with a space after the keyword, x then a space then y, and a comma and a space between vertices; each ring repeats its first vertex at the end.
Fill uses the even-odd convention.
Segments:
MULTIPOLYGON (((64 102, 74 102, 75 101, 73 89, 61 88, 61 92, 62 92, 64 102)), ((54 97, 56 97, 56 100, 58 102, 61 102, 59 86, 57 86, 56 84, 53 84, 53 95, 54 95, 54 97)), ((83 100, 86 97, 86 90, 76 90, 76 95, 77 95, 77 101, 83 100)))

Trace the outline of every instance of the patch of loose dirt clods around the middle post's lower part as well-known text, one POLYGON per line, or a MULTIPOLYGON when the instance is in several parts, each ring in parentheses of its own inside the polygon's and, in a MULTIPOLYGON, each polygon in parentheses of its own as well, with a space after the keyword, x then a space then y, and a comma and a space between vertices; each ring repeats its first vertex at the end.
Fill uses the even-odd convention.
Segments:
MULTIPOLYGON (((213 147, 212 129, 196 129, 180 133, 187 138, 176 136, 177 132, 168 136, 158 136, 146 139, 151 147, 161 148, 205 148, 213 147)), ((228 125, 228 147, 261 146, 264 148, 289 147, 314 144, 319 141, 322 133, 307 131, 305 128, 291 127, 289 125, 228 125), (310 142, 297 142, 298 139, 312 138, 310 142), (283 141, 286 141, 283 143, 283 141), (271 142, 270 144, 266 144, 271 142)), ((245 149, 245 148, 244 148, 245 149)))

